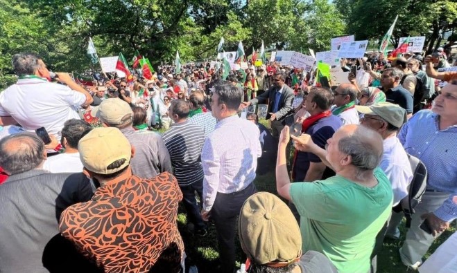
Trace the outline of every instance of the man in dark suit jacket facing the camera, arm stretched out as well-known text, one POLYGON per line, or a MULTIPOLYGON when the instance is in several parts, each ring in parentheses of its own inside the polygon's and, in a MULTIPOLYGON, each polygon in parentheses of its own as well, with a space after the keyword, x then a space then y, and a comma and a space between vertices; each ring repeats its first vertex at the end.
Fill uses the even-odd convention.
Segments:
POLYGON ((243 106, 249 106, 256 102, 262 104, 268 100, 266 119, 271 121, 272 135, 275 138, 279 138, 279 134, 286 124, 284 117, 292 110, 293 90, 284 82, 286 82, 286 75, 280 72, 275 73, 273 75, 273 86, 255 99, 243 102, 243 106))

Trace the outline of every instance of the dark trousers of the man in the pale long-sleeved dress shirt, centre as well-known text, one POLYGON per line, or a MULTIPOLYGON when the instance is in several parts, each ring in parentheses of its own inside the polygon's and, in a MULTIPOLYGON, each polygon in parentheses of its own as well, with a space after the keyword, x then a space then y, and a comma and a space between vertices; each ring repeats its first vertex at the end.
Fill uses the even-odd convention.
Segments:
POLYGON ((216 195, 211 209, 211 218, 216 225, 219 257, 222 263, 220 273, 233 273, 235 270, 236 218, 239 216, 244 201, 255 192, 255 185, 251 183, 241 191, 232 194, 218 192, 216 195))

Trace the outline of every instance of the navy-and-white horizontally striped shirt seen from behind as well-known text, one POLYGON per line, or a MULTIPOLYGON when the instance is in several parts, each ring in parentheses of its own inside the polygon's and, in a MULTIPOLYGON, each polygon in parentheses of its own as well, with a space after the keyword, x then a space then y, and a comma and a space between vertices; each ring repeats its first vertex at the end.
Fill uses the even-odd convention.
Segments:
POLYGON ((171 125, 162 135, 169 150, 173 174, 180 186, 202 180, 203 169, 200 153, 204 143, 203 129, 189 121, 171 125))

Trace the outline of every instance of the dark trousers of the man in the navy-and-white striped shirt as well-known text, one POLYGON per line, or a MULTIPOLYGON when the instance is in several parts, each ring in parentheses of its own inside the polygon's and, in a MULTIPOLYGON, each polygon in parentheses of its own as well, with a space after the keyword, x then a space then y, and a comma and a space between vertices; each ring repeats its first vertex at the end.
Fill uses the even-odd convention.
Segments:
POLYGON ((197 192, 198 197, 200 198, 200 203, 202 202, 203 195, 203 178, 197 182, 193 182, 191 185, 181 186, 182 191, 182 201, 184 207, 187 210, 187 216, 189 220, 193 223, 195 230, 205 229, 206 225, 202 220, 202 215, 200 214, 200 208, 198 207, 197 200, 195 198, 195 192, 197 192))

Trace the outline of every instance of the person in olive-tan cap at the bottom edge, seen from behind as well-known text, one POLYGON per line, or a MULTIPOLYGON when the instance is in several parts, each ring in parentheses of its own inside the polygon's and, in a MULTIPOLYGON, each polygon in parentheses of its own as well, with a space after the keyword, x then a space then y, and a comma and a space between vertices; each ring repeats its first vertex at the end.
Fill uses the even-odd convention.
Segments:
POLYGON ((248 272, 338 272, 322 253, 302 255, 300 227, 291 210, 267 192, 250 196, 241 207, 239 240, 250 260, 248 272))

